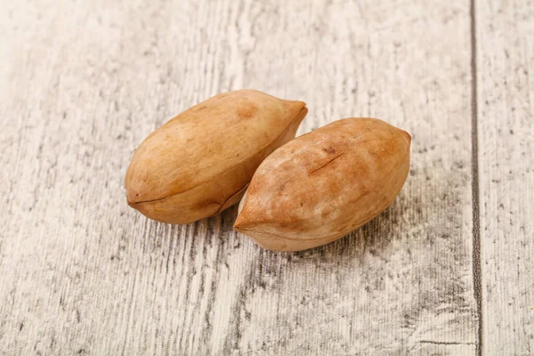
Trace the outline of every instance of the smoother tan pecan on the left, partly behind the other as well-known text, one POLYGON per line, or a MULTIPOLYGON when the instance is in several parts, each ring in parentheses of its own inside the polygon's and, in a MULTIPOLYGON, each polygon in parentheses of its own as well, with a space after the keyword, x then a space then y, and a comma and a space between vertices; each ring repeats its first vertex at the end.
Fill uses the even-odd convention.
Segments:
POLYGON ((221 93, 169 120, 135 150, 127 202, 164 223, 191 223, 239 202, 255 169, 295 137, 307 109, 255 90, 221 93))

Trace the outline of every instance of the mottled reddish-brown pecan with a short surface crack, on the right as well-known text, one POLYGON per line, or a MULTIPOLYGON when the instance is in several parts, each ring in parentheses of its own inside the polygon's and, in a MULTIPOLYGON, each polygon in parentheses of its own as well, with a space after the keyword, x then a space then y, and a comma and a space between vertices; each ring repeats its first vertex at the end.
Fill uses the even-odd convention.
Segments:
POLYGON ((344 118, 297 137, 258 167, 234 224, 274 251, 340 239, 392 204, 411 137, 376 118, 344 118))

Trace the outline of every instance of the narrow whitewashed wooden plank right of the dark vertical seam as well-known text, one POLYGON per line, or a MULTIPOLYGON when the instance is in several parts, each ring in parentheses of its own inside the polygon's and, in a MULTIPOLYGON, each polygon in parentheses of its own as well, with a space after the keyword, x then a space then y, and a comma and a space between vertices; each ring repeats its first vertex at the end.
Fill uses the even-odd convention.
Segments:
POLYGON ((534 354, 534 3, 477 2, 484 352, 534 354))

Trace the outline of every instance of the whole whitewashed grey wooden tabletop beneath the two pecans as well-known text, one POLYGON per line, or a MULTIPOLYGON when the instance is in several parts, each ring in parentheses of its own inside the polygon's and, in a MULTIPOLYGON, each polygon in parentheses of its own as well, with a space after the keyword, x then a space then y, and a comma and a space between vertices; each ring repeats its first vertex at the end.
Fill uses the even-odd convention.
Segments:
POLYGON ((0 354, 534 354, 533 2, 3 1, 0 43, 0 354), (239 88, 406 129, 401 195, 300 253, 129 208, 143 138, 239 88))

